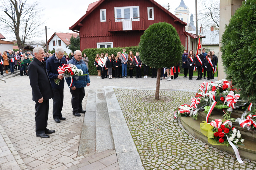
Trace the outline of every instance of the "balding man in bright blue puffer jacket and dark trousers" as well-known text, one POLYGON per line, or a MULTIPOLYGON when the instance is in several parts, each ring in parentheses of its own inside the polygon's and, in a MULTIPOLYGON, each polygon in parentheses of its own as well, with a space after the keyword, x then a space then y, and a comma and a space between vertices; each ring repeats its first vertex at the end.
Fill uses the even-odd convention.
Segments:
MULTIPOLYGON (((56 52, 56 51, 55 51, 56 52)), ((79 76, 76 80, 73 78, 72 85, 70 87, 70 93, 72 95, 71 104, 73 108, 74 116, 81 116, 79 113, 85 113, 86 110, 82 108, 82 100, 85 97, 85 87, 90 85, 90 77, 88 73, 88 68, 85 61, 82 59, 82 52, 77 50, 74 52, 74 57, 69 60, 68 63, 76 65, 77 69, 82 69, 85 76, 79 76)), ((71 77, 65 78, 68 85, 71 83, 71 77)))

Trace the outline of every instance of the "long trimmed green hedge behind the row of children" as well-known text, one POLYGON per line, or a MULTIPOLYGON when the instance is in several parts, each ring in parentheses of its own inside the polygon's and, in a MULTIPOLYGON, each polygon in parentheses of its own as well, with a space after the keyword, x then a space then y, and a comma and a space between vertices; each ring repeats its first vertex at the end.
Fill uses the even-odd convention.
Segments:
MULTIPOLYGON (((87 54, 89 62, 88 62, 88 70, 90 75, 98 75, 98 72, 96 70, 96 67, 94 65, 95 57, 96 54, 101 54, 108 53, 109 55, 114 54, 114 56, 117 55, 117 52, 120 51, 121 53, 123 52, 123 48, 126 49, 126 53, 129 51, 132 51, 133 54, 135 55, 136 51, 138 51, 139 46, 131 46, 131 47, 116 47, 116 48, 87 48, 82 51, 82 56, 83 54, 87 54)), ((182 48, 183 49, 183 48, 182 48)), ((182 66, 182 56, 180 56, 180 64, 182 66)), ((182 67, 180 66, 180 72, 183 72, 182 67)), ((148 76, 152 76, 152 69, 149 69, 148 76)), ((127 75, 129 76, 129 72, 127 71, 127 75)), ((136 71, 133 71, 133 75, 136 75, 136 71)), ((142 65, 141 67, 141 75, 144 75, 144 66, 142 65)))

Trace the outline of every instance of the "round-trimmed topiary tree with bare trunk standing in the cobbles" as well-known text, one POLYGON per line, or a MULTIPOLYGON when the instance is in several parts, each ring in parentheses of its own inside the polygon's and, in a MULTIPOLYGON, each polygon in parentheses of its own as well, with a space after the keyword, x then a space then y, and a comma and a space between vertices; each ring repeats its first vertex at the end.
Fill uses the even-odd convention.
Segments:
POLYGON ((182 56, 182 45, 177 30, 166 22, 150 25, 141 35, 139 52, 144 64, 158 69, 155 99, 159 100, 161 69, 173 67, 182 56))

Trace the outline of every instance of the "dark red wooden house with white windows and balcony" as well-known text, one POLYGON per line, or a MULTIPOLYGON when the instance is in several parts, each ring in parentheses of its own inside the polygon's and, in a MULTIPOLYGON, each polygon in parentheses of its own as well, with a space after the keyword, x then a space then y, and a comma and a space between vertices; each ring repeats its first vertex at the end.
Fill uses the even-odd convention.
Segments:
POLYGON ((174 14, 154 0, 99 0, 89 4, 86 14, 70 30, 79 33, 80 48, 137 46, 151 24, 173 25, 186 47, 185 26, 174 14))

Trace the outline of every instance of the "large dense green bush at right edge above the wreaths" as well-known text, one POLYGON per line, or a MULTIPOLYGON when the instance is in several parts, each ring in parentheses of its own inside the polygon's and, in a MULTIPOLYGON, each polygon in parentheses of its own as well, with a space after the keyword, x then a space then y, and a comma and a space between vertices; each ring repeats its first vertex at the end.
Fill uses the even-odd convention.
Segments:
POLYGON ((256 0, 244 1, 225 26, 222 63, 241 97, 256 102, 256 0))

